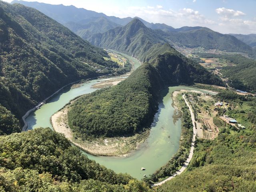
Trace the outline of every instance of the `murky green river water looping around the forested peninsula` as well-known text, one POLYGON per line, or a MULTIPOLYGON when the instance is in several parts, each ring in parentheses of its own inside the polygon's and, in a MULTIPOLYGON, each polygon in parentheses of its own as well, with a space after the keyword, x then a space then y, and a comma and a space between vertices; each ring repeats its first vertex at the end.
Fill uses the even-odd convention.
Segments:
MULTIPOLYGON (((129 59, 133 58, 129 57, 129 59)), ((135 59, 133 59, 133 61, 135 62, 135 68, 137 68, 140 63, 135 59)), ((78 88, 67 89, 56 94, 40 109, 32 112, 26 118, 26 121, 28 122, 27 130, 37 127, 52 128, 50 117, 55 112, 76 96, 95 91, 91 86, 104 80, 106 79, 91 80, 78 88)), ((143 178, 144 174, 152 174, 166 164, 172 155, 177 152, 179 147, 181 122, 180 120, 175 124, 173 122, 172 115, 174 113, 174 108, 172 107, 172 98, 170 96, 174 90, 180 89, 199 90, 186 86, 174 86, 169 87, 165 92, 163 91, 162 102, 159 104, 159 109, 155 116, 154 123, 152 124, 149 138, 144 144, 140 145, 138 150, 132 152, 128 157, 92 156, 86 154, 86 152, 83 153, 86 154, 88 158, 95 160, 99 164, 102 164, 117 173, 128 173, 138 179, 143 178), (141 171, 142 167, 146 168, 146 170, 141 171)))

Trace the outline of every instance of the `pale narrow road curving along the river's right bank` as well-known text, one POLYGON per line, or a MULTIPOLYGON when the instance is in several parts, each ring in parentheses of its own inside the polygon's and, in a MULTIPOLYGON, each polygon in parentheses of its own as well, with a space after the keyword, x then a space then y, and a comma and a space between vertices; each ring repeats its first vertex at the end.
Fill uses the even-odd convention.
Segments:
POLYGON ((186 96, 182 95, 182 98, 185 100, 186 105, 189 108, 190 111, 190 115, 191 115, 191 119, 192 119, 192 124, 193 124, 193 138, 192 138, 192 143, 191 143, 191 148, 190 148, 190 152, 189 152, 189 156, 187 158, 187 160, 185 161, 185 163, 183 164, 182 168, 180 168, 180 170, 178 170, 175 174, 173 174, 172 176, 170 176, 169 178, 163 180, 162 182, 156 183, 156 184, 152 184, 151 186, 160 186, 162 184, 164 184, 166 181, 171 180, 172 178, 174 178, 177 175, 180 175, 188 166, 190 160, 193 157, 194 154, 194 145, 195 145, 195 140, 196 140, 196 126, 195 126, 195 116, 192 110, 192 107, 190 106, 190 104, 188 103, 188 101, 186 100, 186 96))

